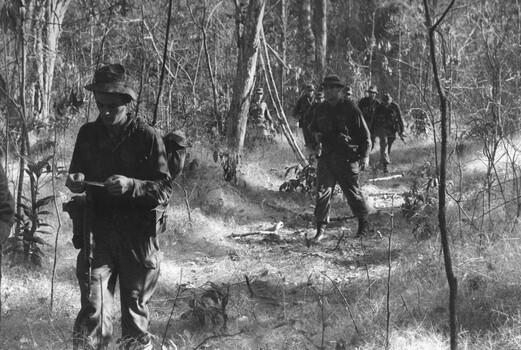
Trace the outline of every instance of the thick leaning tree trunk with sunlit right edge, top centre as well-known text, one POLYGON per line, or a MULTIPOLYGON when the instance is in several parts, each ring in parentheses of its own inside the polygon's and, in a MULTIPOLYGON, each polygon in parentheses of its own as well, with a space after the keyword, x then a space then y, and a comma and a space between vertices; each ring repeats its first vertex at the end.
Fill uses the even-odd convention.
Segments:
POLYGON ((238 35, 237 74, 226 128, 227 146, 236 156, 242 153, 244 147, 265 6, 266 0, 250 0, 246 17, 242 23, 239 23, 238 28, 240 31, 243 26, 243 32, 239 32, 238 35))

